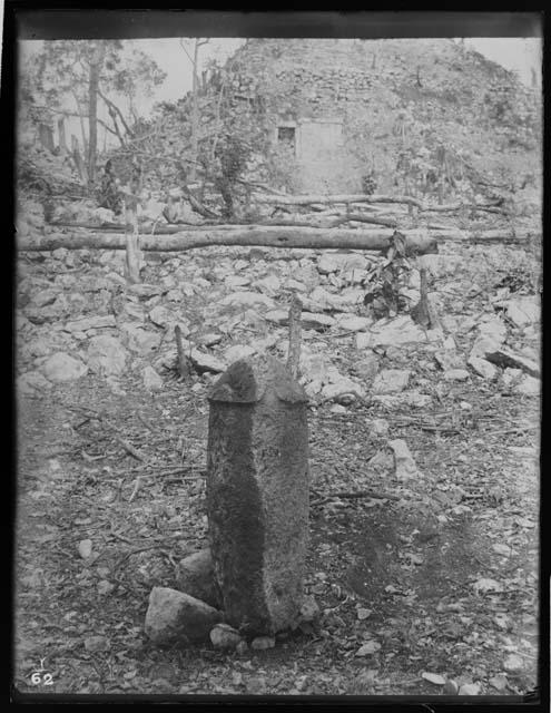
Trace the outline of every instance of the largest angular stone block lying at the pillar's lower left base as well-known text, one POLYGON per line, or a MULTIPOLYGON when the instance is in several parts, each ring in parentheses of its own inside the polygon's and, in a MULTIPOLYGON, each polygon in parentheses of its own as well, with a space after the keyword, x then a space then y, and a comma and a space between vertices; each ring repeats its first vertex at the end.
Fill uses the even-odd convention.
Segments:
POLYGON ((154 587, 145 631, 154 644, 203 642, 222 618, 222 612, 200 599, 169 587, 154 587))

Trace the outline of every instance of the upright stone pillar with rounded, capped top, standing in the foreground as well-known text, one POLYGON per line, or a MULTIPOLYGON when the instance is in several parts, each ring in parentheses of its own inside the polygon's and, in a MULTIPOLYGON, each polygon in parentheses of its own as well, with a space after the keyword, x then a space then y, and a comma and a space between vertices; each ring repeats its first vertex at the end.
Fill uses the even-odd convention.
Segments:
POLYGON ((303 600, 307 397, 265 355, 232 364, 209 402, 207 516, 226 621, 275 633, 296 621, 303 600))

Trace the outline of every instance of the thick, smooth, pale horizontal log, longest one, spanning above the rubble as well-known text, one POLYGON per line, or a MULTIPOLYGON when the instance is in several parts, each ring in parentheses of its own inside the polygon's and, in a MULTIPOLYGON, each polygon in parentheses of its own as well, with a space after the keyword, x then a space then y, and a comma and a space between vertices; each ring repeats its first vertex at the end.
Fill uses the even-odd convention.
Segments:
MULTIPOLYGON (((210 245, 245 245, 288 248, 355 248, 384 251, 390 246, 392 231, 361 231, 351 228, 262 227, 239 226, 235 229, 181 231, 177 235, 140 236, 140 250, 180 252, 210 245)), ((419 231, 404 231, 410 254, 436 253, 436 240, 419 231)), ((19 240, 19 251, 125 250, 124 235, 97 233, 89 235, 48 235, 38 241, 19 240)))

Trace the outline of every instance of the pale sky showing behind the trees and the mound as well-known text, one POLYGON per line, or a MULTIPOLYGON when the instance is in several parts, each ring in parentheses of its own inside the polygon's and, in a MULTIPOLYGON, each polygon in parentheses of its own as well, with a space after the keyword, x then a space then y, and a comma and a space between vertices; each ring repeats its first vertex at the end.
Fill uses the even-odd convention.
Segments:
MULTIPOLYGON (((184 41, 188 51, 191 52, 193 39, 184 41)), ((223 64, 244 41, 243 38, 211 38, 207 45, 199 49, 200 66, 204 67, 211 58, 223 64)), ((39 40, 21 41, 22 57, 38 51, 41 43, 39 40)), ((132 45, 155 59, 167 75, 164 84, 156 88, 154 94, 138 97, 136 105, 140 114, 147 116, 155 102, 176 101, 191 89, 191 62, 181 48, 180 39, 132 40, 132 45)), ((532 68, 541 77, 541 39, 539 38, 469 38, 465 40, 465 45, 506 69, 518 71, 519 78, 527 85, 531 81, 532 68)), ((107 119, 108 117, 102 117, 100 110, 100 118, 107 119)), ((69 120, 68 125, 69 135, 75 133, 80 137, 78 121, 76 119, 69 120)), ((104 131, 100 130, 100 146, 104 141, 102 134, 104 131)))

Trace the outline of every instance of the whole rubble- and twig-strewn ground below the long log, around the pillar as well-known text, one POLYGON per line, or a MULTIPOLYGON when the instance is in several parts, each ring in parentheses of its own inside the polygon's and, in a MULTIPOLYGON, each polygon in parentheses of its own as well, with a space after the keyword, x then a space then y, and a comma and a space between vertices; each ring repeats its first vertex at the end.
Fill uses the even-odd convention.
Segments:
MULTIPOLYGON (((148 253, 130 286, 122 252, 20 255, 20 691, 534 688, 540 263, 502 245, 422 257, 442 323, 425 332, 364 307, 375 260, 148 253), (311 398, 306 589, 321 615, 268 651, 156 647, 149 592, 177 588, 178 560, 206 541, 209 385, 243 355, 286 356, 293 292, 311 398)), ((417 289, 413 270, 412 302, 417 289)))

